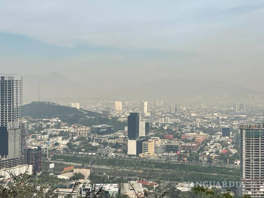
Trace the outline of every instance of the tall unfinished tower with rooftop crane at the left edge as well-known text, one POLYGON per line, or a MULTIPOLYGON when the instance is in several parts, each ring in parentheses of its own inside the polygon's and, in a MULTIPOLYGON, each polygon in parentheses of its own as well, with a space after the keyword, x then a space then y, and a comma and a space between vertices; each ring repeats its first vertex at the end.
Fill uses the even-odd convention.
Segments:
MULTIPOLYGON (((22 79, 12 75, 0 76, 0 158, 17 166, 21 156, 22 79), (14 159, 13 159, 14 158, 14 159), (13 160, 11 160, 13 159, 13 160)), ((21 160, 20 160, 21 164, 21 160)))

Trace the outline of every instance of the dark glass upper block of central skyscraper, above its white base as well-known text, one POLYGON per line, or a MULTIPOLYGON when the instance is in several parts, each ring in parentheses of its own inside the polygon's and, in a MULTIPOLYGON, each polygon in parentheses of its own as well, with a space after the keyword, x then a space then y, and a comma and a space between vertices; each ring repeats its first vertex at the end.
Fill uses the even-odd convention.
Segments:
POLYGON ((136 140, 139 137, 140 111, 132 111, 127 116, 127 136, 130 140, 136 140))

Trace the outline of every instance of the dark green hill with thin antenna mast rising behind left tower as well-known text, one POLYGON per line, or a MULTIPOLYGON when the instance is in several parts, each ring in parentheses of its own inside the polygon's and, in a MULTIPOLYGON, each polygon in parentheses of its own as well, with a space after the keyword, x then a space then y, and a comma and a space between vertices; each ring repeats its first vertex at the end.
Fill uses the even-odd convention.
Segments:
POLYGON ((31 102, 30 104, 23 105, 23 116, 30 116, 33 118, 50 118, 50 117, 79 117, 79 116, 102 116, 102 114, 78 110, 76 108, 58 105, 51 102, 31 102))

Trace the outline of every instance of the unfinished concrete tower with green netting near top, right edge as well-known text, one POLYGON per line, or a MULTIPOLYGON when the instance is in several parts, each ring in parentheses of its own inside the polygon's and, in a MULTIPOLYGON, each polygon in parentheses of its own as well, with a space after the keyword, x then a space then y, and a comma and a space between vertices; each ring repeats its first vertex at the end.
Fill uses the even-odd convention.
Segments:
POLYGON ((264 197, 264 127, 240 126, 240 193, 264 197))

